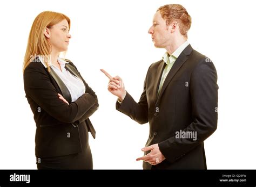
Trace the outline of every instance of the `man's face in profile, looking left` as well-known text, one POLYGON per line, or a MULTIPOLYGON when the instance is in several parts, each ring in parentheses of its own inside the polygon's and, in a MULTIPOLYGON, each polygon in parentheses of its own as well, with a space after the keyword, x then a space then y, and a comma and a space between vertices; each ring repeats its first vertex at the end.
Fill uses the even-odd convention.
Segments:
POLYGON ((153 25, 149 29, 154 46, 158 48, 166 48, 171 42, 170 26, 166 26, 165 20, 157 11, 153 18, 153 25))

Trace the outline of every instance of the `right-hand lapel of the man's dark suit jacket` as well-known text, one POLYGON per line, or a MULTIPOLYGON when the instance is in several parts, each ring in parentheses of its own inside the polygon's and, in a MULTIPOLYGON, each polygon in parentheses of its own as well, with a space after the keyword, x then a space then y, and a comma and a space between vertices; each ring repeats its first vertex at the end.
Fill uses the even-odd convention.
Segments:
POLYGON ((167 77, 165 78, 163 87, 161 88, 161 91, 160 91, 159 96, 157 98, 157 102, 158 102, 159 98, 161 98, 161 96, 163 95, 163 92, 165 91, 167 85, 171 82, 173 76, 177 73, 179 68, 188 59, 188 56, 191 54, 192 51, 193 51, 193 48, 191 47, 191 45, 188 45, 184 49, 184 51, 181 52, 181 54, 179 55, 178 59, 174 62, 173 67, 171 68, 171 70, 169 71, 167 77))

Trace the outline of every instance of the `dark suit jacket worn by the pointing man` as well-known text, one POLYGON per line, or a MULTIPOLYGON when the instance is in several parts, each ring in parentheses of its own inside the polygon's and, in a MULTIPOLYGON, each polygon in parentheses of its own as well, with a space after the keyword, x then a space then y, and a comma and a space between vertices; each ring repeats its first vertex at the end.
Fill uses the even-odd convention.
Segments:
POLYGON ((153 63, 139 102, 127 92, 116 108, 139 124, 149 122, 146 146, 158 143, 166 158, 156 166, 143 162, 144 169, 206 169, 204 140, 216 130, 218 119, 216 69, 210 59, 188 45, 157 95, 164 68, 163 60, 153 63), (180 130, 197 132, 197 140, 176 138, 180 130))

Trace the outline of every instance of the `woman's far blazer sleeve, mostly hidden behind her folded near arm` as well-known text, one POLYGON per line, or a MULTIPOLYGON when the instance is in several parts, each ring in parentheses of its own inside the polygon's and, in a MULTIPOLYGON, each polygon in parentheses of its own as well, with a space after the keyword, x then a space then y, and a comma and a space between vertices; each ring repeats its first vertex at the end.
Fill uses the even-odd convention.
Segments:
POLYGON ((95 98, 95 104, 87 111, 84 113, 84 115, 78 119, 79 124, 88 119, 96 110, 99 108, 99 102, 98 102, 98 97, 95 94, 95 92, 89 87, 89 85, 85 82, 84 78, 81 76, 80 72, 78 71, 77 67, 71 62, 72 66, 76 68, 79 76, 82 78, 82 81, 84 82, 86 86, 86 91, 85 93, 89 93, 93 98, 95 98))

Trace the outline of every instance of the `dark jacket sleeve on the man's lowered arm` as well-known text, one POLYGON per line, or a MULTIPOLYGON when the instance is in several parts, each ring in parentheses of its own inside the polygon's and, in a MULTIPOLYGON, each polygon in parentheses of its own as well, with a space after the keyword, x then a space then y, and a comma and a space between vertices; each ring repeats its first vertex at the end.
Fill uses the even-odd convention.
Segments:
POLYGON ((218 85, 217 72, 212 62, 200 62, 190 81, 193 122, 183 130, 196 132, 197 138, 171 138, 158 143, 166 160, 173 163, 198 146, 217 129, 218 85))

